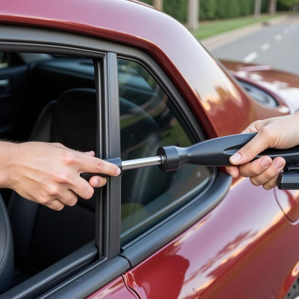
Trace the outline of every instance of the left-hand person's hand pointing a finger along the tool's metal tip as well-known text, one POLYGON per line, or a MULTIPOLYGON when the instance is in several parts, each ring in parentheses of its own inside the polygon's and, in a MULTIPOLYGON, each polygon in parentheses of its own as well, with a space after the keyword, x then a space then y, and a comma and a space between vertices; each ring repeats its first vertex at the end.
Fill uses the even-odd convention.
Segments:
POLYGON ((94 152, 74 151, 59 143, 0 142, 0 149, 0 187, 54 210, 75 205, 77 195, 90 199, 93 187, 106 184, 106 178, 100 176, 87 182, 80 173, 120 174, 116 165, 95 158, 94 152))

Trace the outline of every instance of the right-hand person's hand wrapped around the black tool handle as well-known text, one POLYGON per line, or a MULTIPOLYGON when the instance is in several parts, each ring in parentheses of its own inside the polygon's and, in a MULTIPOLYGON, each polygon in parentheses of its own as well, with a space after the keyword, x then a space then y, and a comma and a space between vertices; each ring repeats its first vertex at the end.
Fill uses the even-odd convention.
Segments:
MULTIPOLYGON (((234 178, 250 177, 255 186, 263 185, 266 190, 276 186, 277 176, 286 164, 282 157, 263 156, 251 161, 267 148, 286 149, 299 144, 299 113, 257 120, 242 133, 258 132, 244 147, 231 156, 230 162, 237 166, 225 167, 234 178)), ((299 163, 299 161, 298 161, 299 163)))

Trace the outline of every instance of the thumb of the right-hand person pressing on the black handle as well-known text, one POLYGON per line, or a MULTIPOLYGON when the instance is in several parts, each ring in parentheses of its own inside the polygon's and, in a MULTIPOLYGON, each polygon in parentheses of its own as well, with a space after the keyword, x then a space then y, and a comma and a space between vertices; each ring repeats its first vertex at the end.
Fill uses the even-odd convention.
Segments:
POLYGON ((261 132, 258 132, 251 141, 229 158, 231 164, 240 165, 247 163, 267 149, 269 147, 269 142, 267 142, 267 137, 265 137, 266 136, 261 134, 261 132))

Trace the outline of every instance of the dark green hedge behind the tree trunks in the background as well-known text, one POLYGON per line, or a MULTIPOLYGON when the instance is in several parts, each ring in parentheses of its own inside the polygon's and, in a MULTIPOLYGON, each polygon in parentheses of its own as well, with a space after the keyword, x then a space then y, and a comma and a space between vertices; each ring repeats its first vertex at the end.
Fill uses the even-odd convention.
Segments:
MULTIPOLYGON (((152 4, 152 0, 142 0, 152 4)), ((163 10, 179 22, 186 22, 188 0, 163 0, 163 10)), ((247 16, 254 13, 255 0, 199 0, 199 19, 214 20, 247 16)), ((261 11, 267 12, 268 0, 262 0, 261 11)))

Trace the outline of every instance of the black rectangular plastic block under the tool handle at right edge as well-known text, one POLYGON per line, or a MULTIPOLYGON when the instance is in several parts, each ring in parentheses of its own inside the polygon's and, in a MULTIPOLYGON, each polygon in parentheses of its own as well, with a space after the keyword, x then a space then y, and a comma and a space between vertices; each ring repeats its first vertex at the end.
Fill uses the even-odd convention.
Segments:
POLYGON ((277 178, 277 187, 280 190, 299 189, 299 164, 287 165, 283 168, 283 172, 277 178))

